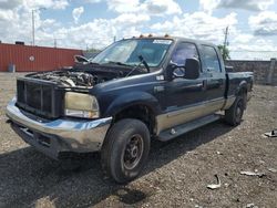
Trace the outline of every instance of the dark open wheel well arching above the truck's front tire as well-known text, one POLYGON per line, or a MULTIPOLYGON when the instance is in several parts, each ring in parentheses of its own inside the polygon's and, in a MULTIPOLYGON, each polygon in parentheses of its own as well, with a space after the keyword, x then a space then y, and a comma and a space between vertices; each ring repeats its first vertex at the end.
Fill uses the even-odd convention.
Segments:
POLYGON ((146 105, 132 105, 116 113, 113 123, 123 118, 135 118, 142 121, 153 134, 155 129, 155 115, 146 105))

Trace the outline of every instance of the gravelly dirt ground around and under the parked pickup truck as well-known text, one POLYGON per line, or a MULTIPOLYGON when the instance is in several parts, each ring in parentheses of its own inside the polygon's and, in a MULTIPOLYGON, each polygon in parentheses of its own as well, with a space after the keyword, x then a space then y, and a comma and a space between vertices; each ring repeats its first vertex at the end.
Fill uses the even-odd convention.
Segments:
POLYGON ((0 207, 277 207, 277 138, 263 137, 277 128, 277 87, 256 85, 237 127, 215 122, 153 141, 142 176, 119 186, 103 177, 99 154, 65 171, 11 131, 4 108, 16 75, 0 73, 0 207), (211 190, 215 175, 222 187, 211 190))

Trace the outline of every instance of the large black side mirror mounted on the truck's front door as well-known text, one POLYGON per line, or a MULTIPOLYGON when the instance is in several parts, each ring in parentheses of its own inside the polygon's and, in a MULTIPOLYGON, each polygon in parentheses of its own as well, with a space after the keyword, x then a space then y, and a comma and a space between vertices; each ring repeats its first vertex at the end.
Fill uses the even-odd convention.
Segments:
POLYGON ((196 80, 201 75, 201 63, 197 59, 187 59, 185 65, 185 79, 196 80))

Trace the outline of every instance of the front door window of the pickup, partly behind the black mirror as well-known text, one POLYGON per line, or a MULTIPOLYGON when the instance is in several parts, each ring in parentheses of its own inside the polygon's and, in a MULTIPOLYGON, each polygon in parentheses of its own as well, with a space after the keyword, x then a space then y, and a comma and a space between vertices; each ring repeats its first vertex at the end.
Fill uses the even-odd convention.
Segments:
POLYGON ((186 63, 186 59, 192 58, 198 59, 198 53, 195 44, 179 43, 172 55, 172 62, 178 65, 184 65, 186 63))

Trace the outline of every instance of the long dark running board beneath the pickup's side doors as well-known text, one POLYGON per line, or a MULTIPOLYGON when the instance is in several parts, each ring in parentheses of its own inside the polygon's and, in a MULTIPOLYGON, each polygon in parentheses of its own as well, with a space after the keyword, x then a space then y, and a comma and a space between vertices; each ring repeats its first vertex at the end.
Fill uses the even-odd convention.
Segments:
POLYGON ((177 136, 181 136, 182 134, 185 134, 185 133, 191 132, 195 128, 198 128, 201 126, 204 126, 206 124, 215 122, 219 118, 220 118, 220 115, 213 114, 213 115, 208 115, 205 117, 194 119, 192 122, 188 122, 188 123, 185 123, 185 124, 182 124, 182 125, 178 125, 178 126, 175 126, 175 127, 172 127, 170 129, 161 132, 160 135, 157 136, 157 139, 162 141, 162 142, 173 139, 177 136))

